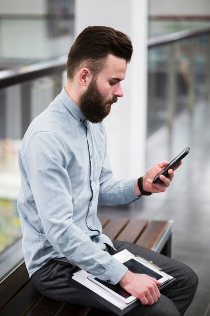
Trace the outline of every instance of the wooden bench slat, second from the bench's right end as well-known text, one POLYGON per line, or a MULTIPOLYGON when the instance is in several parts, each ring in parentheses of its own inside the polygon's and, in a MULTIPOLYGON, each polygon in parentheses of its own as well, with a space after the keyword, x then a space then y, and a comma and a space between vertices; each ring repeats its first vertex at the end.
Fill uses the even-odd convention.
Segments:
POLYGON ((148 221, 130 219, 123 231, 117 236, 118 240, 135 243, 142 234, 148 221))

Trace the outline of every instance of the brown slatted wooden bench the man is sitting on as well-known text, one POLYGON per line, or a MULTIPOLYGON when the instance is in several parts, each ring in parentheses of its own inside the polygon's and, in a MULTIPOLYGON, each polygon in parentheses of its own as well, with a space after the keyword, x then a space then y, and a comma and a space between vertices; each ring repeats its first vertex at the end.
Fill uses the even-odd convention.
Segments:
MULTIPOLYGON (((173 221, 100 217, 103 232, 171 256, 173 221)), ((60 303, 40 294, 30 282, 24 260, 0 280, 1 316, 110 316, 89 307, 60 303)))

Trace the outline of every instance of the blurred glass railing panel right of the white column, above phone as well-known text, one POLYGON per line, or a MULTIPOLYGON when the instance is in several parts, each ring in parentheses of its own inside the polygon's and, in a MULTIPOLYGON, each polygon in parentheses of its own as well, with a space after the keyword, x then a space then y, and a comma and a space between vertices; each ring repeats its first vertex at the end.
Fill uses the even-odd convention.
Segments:
MULTIPOLYGON (((193 144, 210 100, 210 34, 149 48, 147 167, 193 144), (196 113, 202 114, 195 121, 196 113)), ((200 126, 202 129, 202 126, 200 126)))

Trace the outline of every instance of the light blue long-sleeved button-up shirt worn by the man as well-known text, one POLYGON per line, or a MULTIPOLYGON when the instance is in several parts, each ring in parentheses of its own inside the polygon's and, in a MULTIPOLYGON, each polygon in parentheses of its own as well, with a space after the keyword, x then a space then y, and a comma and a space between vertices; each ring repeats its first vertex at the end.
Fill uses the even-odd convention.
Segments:
POLYGON ((51 258, 66 257, 116 284, 127 268, 105 249, 98 204, 129 204, 136 180, 112 177, 103 123, 93 124, 63 88, 29 126, 19 150, 18 210, 31 276, 51 258))

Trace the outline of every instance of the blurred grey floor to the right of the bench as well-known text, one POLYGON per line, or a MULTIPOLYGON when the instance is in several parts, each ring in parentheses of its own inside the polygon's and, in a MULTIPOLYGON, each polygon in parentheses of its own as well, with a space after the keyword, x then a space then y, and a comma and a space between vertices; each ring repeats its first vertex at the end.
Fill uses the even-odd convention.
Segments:
POLYGON ((167 192, 142 198, 129 207, 100 207, 99 213, 140 219, 173 219, 173 257, 190 266, 199 285, 186 316, 210 316, 210 107, 199 103, 193 116, 183 113, 173 132, 148 141, 148 166, 172 159, 186 146, 188 156, 167 192), (166 139, 168 137, 168 139, 166 139), (166 146, 168 145, 168 155, 166 146), (164 155, 163 155, 164 152, 164 155))

